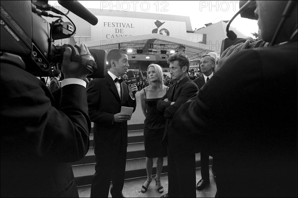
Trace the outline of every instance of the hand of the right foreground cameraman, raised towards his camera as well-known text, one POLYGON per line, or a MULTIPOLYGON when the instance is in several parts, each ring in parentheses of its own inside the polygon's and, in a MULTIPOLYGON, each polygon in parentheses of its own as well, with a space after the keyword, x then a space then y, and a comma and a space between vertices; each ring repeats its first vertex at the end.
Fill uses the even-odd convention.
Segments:
POLYGON ((223 54, 221 55, 221 58, 219 59, 219 62, 216 66, 216 72, 221 69, 221 67, 224 65, 226 62, 227 58, 230 55, 233 55, 234 53, 238 51, 242 51, 243 49, 248 49, 249 48, 249 40, 245 41, 245 43, 239 43, 234 46, 230 46, 227 49, 224 50, 223 54))

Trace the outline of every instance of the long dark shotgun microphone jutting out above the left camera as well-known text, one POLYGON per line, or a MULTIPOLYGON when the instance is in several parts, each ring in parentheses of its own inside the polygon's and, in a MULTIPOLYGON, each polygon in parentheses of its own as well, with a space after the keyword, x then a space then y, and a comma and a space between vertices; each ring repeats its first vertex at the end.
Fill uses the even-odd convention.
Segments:
POLYGON ((96 25, 98 19, 77 0, 58 0, 59 4, 84 19, 91 25, 96 25))

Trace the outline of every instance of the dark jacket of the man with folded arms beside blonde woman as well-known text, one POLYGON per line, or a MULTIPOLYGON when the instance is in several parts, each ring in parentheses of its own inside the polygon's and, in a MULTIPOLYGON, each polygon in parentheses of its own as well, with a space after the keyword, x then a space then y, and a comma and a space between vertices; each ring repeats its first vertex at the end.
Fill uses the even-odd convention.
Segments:
MULTIPOLYGON (((172 118, 178 108, 185 103, 191 96, 196 94, 198 91, 197 85, 192 82, 192 80, 189 79, 189 77, 183 78, 179 84, 176 86, 176 83, 171 85, 166 92, 165 96, 163 96, 160 100, 157 101, 157 109, 159 111, 164 112, 164 117, 166 117, 166 126, 164 130, 163 140, 166 138, 166 136, 173 135, 172 130, 172 118), (164 99, 168 99, 169 101, 165 102, 164 99), (171 102, 174 101, 175 103, 173 105, 170 105, 171 102), (171 134, 169 134, 171 133, 171 134)), ((182 132, 182 131, 181 131, 182 132)), ((178 132, 179 133, 179 132, 178 132)), ((175 140, 175 145, 184 145, 183 140, 175 140)))

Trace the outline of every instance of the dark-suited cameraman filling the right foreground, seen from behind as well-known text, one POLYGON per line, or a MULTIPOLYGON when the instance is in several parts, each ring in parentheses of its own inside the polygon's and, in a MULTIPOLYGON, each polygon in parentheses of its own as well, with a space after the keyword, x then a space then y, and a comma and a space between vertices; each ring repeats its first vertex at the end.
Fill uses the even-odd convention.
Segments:
POLYGON ((173 126, 216 157, 217 197, 297 197, 297 1, 257 1, 254 13, 275 46, 224 51, 173 126))

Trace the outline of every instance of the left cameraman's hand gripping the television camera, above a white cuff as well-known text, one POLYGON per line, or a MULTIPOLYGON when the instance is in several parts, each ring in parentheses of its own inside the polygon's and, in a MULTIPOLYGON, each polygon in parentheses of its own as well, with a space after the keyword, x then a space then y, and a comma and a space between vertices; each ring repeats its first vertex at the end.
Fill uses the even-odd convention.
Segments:
MULTIPOLYGON (((80 45, 79 54, 90 54, 89 49, 85 44, 80 45)), ((87 68, 81 66, 79 62, 71 61, 71 55, 72 49, 70 47, 66 47, 62 61, 62 72, 65 78, 86 78, 90 71, 87 68)))

